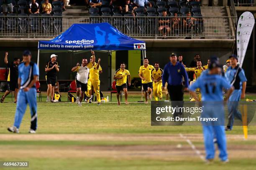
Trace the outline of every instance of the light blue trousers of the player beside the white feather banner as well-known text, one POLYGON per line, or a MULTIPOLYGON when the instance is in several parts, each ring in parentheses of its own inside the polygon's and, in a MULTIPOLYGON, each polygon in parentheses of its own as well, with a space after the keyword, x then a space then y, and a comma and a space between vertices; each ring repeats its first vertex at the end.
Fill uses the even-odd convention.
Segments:
POLYGON ((241 90, 234 90, 228 100, 228 126, 230 129, 233 128, 235 117, 242 120, 241 112, 238 110, 241 92, 241 90))

